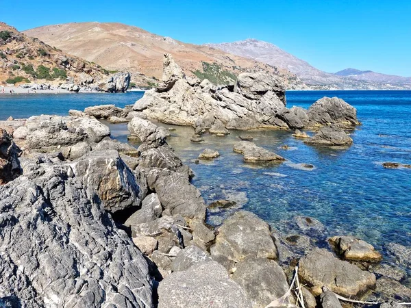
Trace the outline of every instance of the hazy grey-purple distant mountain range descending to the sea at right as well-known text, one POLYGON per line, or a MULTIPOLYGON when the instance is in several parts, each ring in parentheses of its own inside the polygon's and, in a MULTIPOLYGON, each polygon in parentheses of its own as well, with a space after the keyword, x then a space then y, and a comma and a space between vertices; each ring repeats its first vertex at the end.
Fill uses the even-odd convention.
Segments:
POLYGON ((249 57, 253 60, 290 70, 301 81, 314 89, 411 89, 410 78, 374 73, 371 70, 347 68, 336 74, 325 73, 274 44, 261 40, 248 39, 206 45, 221 49, 226 53, 249 57))

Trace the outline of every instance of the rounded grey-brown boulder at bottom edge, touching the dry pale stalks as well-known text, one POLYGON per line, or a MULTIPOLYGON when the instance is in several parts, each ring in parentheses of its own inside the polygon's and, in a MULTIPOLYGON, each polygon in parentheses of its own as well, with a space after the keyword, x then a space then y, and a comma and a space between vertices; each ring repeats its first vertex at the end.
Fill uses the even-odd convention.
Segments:
POLYGON ((247 258, 240 261, 232 279, 242 287, 253 307, 266 307, 288 291, 284 270, 269 259, 247 258))

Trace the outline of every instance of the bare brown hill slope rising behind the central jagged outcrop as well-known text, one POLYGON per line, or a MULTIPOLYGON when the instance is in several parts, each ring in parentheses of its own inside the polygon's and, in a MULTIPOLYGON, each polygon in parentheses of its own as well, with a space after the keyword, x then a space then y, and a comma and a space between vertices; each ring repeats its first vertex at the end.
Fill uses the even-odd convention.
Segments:
POLYGON ((153 80, 161 79, 163 54, 171 53, 187 75, 215 79, 214 83, 227 84, 238 73, 266 70, 282 75, 289 81, 289 88, 305 88, 288 70, 230 55, 219 49, 157 36, 121 23, 49 25, 29 29, 25 34, 108 69, 127 69, 134 73, 134 77, 143 74, 153 80))

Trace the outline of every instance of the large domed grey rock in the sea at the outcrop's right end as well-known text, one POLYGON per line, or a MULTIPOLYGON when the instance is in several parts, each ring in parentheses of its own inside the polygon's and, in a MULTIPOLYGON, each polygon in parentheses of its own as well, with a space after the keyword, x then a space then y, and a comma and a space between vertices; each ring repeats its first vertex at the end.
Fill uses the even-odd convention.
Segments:
POLYGON ((359 125, 357 110, 338 97, 323 97, 308 108, 308 118, 312 124, 359 125))

